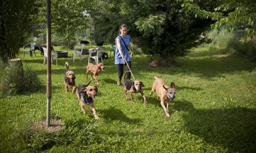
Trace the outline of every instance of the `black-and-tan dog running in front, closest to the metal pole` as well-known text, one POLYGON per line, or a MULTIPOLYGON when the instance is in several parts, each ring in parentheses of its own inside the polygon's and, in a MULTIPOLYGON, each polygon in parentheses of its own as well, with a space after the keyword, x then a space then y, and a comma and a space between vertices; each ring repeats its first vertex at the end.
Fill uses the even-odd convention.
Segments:
POLYGON ((98 92, 98 88, 96 86, 88 86, 90 83, 91 81, 87 85, 79 85, 76 90, 76 96, 77 96, 77 99, 79 100, 81 110, 84 112, 84 114, 87 113, 86 110, 84 109, 84 105, 87 105, 88 111, 90 112, 90 107, 91 107, 94 118, 98 120, 99 117, 95 110, 94 101, 93 101, 98 92))

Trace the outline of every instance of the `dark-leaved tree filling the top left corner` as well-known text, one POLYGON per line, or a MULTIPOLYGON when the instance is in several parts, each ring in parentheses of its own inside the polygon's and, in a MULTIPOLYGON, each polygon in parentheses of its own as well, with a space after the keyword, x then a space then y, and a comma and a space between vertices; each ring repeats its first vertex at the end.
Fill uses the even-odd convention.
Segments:
POLYGON ((0 57, 3 61, 15 58, 24 45, 30 30, 29 15, 33 13, 34 1, 0 1, 0 57))

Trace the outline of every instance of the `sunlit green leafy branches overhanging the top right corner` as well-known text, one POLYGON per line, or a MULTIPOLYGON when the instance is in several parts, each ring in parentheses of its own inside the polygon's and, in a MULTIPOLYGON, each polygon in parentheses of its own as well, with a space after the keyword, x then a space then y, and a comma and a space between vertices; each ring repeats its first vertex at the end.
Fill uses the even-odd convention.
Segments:
MULTIPOLYGON (((225 27, 228 31, 246 28, 247 35, 241 41, 255 37, 256 1, 254 0, 222 0, 208 1, 211 5, 218 4, 215 8, 206 9, 205 3, 193 0, 178 0, 183 2, 183 10, 191 12, 201 19, 212 19, 215 23, 212 28, 225 27)), ((199 0, 200 1, 200 0, 199 0)))

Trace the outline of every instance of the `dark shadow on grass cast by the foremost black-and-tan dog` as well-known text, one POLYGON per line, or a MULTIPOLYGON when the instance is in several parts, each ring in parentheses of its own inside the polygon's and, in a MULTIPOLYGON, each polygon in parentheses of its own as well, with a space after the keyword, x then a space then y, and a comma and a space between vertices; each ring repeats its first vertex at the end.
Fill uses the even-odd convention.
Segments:
POLYGON ((102 113, 102 118, 106 119, 106 120, 116 120, 116 121, 121 121, 121 122, 127 122, 127 123, 138 123, 140 122, 140 119, 135 118, 135 119, 131 119, 128 118, 125 114, 123 114, 122 111, 111 107, 107 110, 99 110, 102 113))

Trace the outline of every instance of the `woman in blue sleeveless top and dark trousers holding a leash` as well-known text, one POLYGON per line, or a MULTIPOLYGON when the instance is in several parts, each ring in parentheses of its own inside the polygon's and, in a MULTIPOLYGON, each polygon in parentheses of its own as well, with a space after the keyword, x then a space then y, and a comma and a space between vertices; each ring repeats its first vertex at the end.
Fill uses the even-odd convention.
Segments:
MULTIPOLYGON (((115 51, 115 64, 118 70, 118 86, 121 85, 121 80, 123 77, 123 65, 126 65, 126 71, 129 71, 129 67, 131 68, 131 57, 133 57, 133 52, 131 50, 130 39, 131 37, 127 34, 127 25, 121 24, 119 27, 119 35, 115 39, 116 43, 116 51, 115 51), (129 54, 129 51, 131 54, 129 54), (127 61, 128 65, 126 64, 127 61)), ((130 79, 130 72, 127 73, 126 79, 130 79)))

